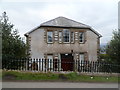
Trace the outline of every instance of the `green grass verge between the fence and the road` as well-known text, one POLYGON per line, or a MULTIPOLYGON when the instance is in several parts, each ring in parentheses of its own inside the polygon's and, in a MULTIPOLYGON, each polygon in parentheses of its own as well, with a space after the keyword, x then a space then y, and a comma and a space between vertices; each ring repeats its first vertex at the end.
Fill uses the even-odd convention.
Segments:
POLYGON ((4 80, 18 80, 18 81, 69 81, 69 82, 118 82, 117 76, 91 76, 78 75, 77 73, 36 73, 36 72, 17 72, 17 71, 3 71, 2 79, 4 80))

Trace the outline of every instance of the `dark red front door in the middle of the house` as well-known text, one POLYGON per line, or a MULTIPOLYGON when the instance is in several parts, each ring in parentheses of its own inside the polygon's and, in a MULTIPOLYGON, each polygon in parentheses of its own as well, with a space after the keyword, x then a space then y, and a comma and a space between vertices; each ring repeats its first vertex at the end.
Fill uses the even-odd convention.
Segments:
POLYGON ((63 71, 73 71, 74 60, 72 54, 61 54, 61 68, 63 71))

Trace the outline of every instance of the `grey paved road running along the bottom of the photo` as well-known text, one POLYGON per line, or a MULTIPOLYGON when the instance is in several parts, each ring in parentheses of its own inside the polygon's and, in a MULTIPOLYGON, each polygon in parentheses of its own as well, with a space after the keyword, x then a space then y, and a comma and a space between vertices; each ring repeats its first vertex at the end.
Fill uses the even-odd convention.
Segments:
POLYGON ((3 82, 2 88, 118 88, 118 83, 3 82))

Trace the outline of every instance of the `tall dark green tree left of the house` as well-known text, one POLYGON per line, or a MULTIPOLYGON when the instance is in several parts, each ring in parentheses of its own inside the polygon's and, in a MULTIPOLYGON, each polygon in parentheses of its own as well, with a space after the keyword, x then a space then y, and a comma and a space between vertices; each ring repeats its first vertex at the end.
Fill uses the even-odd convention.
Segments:
POLYGON ((6 12, 0 17, 0 28, 2 30, 2 65, 13 58, 27 57, 27 45, 18 35, 18 31, 9 22, 6 12))

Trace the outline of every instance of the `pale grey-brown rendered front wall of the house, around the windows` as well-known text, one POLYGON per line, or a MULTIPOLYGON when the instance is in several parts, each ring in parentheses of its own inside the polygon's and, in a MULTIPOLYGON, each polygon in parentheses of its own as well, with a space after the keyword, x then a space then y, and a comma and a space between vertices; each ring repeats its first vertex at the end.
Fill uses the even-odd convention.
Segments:
POLYGON ((44 58, 44 53, 74 53, 87 52, 89 60, 97 60, 97 38, 98 36, 90 30, 86 31, 85 44, 47 44, 44 40, 44 29, 35 30, 30 34, 31 37, 31 57, 44 58))

